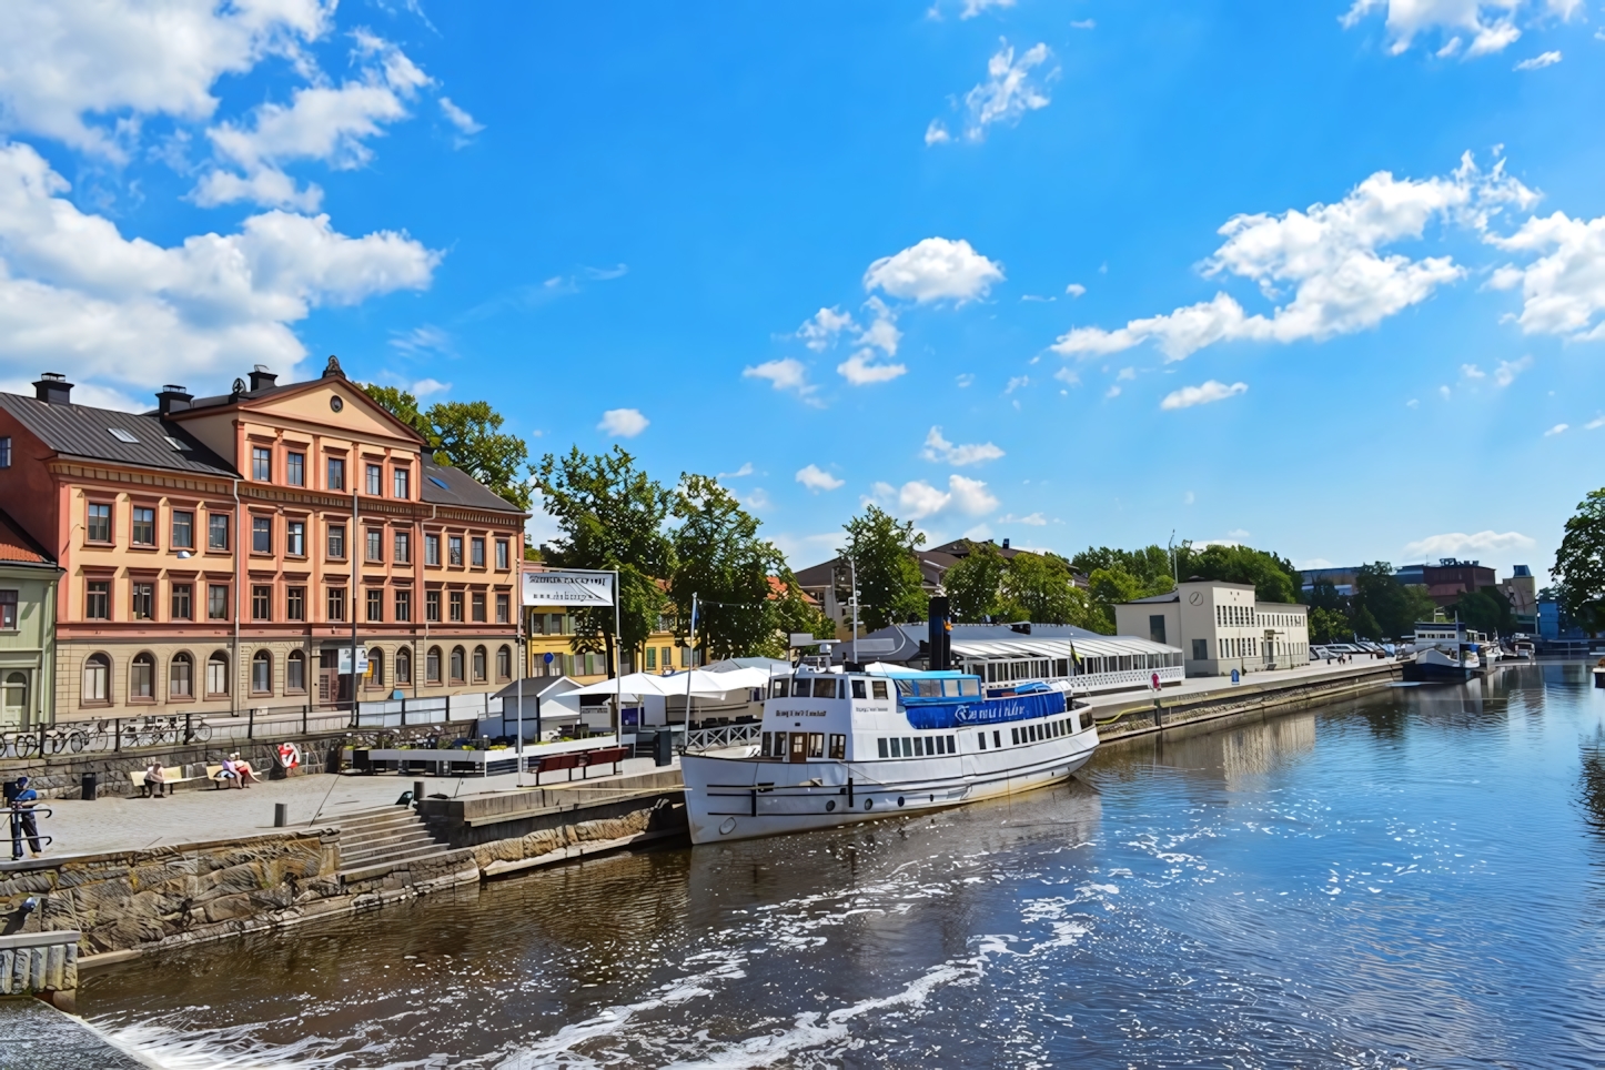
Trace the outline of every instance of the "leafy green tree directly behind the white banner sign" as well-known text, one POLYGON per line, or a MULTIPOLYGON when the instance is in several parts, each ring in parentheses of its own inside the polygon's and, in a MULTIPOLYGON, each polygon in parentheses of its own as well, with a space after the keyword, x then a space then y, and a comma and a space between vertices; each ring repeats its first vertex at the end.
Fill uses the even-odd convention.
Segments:
MULTIPOLYGON (((563 457, 546 454, 533 472, 542 507, 560 531, 547 561, 618 569, 624 650, 640 650, 664 605, 658 578, 674 573, 674 545, 663 531, 674 496, 620 446, 595 456, 578 446, 563 457)), ((575 650, 605 650, 608 664, 616 664, 613 643, 612 608, 575 613, 575 650)))

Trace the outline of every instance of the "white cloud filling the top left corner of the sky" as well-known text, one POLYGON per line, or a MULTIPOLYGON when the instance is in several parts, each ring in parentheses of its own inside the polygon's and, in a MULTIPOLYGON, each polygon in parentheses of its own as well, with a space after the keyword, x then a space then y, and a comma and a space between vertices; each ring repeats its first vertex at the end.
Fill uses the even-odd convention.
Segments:
POLYGON ((323 37, 332 0, 10 3, 0 19, 0 111, 6 125, 114 160, 138 117, 201 122, 212 85, 263 56, 323 37))

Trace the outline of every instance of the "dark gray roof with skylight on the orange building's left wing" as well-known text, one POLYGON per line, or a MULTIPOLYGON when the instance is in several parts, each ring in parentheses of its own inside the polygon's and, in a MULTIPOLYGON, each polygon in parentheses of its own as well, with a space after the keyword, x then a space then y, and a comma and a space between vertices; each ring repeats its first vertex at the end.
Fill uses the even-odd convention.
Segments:
POLYGON ((0 409, 10 412, 18 424, 64 457, 197 472, 223 478, 238 476, 226 460, 202 446, 193 435, 156 415, 93 409, 87 404, 50 404, 13 393, 0 393, 0 409), (111 428, 127 432, 135 441, 114 436, 111 428), (183 443, 188 449, 173 449, 169 438, 183 443))

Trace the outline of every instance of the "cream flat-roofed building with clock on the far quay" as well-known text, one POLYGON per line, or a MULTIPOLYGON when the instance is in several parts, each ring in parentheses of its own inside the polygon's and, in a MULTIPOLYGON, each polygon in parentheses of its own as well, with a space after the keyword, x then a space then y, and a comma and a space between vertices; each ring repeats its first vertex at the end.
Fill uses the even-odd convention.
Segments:
POLYGON ((1257 602, 1254 584, 1194 579, 1114 608, 1115 630, 1180 646, 1188 675, 1310 664, 1310 610, 1257 602))

